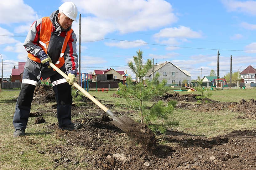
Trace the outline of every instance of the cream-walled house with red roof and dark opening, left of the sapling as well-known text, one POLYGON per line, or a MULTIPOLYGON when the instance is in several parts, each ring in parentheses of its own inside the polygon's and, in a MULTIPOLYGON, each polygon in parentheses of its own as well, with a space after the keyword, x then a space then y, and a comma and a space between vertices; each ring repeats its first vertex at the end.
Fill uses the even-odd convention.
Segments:
POLYGON ((102 82, 102 81, 114 81, 122 80, 124 71, 116 71, 113 68, 106 69, 106 70, 94 70, 92 74, 92 81, 93 82, 102 82))

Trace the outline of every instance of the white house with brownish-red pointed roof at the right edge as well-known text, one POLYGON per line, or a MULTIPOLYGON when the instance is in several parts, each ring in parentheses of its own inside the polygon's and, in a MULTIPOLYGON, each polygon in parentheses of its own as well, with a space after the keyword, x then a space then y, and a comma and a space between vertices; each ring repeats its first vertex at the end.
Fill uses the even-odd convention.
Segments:
POLYGON ((251 65, 245 68, 239 75, 240 82, 256 83, 256 70, 251 65))

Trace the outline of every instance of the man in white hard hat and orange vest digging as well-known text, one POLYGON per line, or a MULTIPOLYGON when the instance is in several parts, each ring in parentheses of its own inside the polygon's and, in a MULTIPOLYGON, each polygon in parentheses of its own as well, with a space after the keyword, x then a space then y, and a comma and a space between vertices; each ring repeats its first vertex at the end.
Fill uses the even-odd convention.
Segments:
POLYGON ((76 5, 65 2, 50 17, 40 18, 30 27, 24 42, 28 58, 13 116, 14 138, 25 135, 34 90, 40 78, 50 77, 56 94, 59 128, 74 130, 81 127, 79 123, 71 122, 71 85, 76 82, 78 67, 76 34, 71 24, 76 21, 76 16, 76 5), (69 79, 53 70, 49 62, 66 73, 69 79))

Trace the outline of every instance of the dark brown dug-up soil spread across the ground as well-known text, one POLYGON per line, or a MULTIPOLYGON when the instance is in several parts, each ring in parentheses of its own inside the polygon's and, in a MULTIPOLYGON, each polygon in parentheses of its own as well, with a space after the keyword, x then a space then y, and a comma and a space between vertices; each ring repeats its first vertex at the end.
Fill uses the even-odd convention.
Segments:
MULTIPOLYGON (((37 94, 44 98, 44 93, 42 91, 35 93, 35 99, 37 94)), ((159 100, 159 98, 155 100, 159 100)), ((183 109, 196 109, 205 112, 212 112, 214 109, 229 109, 233 112, 244 113, 244 119, 256 118, 253 99, 241 100, 239 103, 211 101, 211 103, 191 104, 187 102, 196 102, 195 95, 183 96, 176 93, 172 96, 162 97, 161 100, 177 100, 177 107, 183 109)), ((108 105, 108 108, 111 107, 112 105, 108 105)), ((54 113, 56 108, 47 109, 52 109, 52 113, 54 113)), ((72 115, 82 114, 84 116, 83 119, 73 120, 73 122, 80 122, 81 128, 76 131, 61 131, 57 124, 45 127, 47 131, 54 132, 52 133, 53 138, 65 139, 66 143, 50 145, 45 150, 38 151, 41 154, 60 153, 61 158, 52 157, 56 169, 60 165, 68 167, 69 164, 78 165, 80 163, 87 163, 90 166, 89 169, 107 170, 256 169, 255 130, 239 130, 214 138, 206 138, 169 129, 165 135, 156 136, 156 145, 152 147, 155 149, 152 150, 150 147, 145 148, 140 143, 134 142, 126 133, 115 127, 109 121, 110 118, 108 119, 106 115, 102 116, 104 111, 95 104, 73 105, 71 112, 72 115), (169 143, 170 146, 160 144, 163 141, 169 143), (84 147, 89 152, 76 155, 72 150, 73 146, 84 147)), ((43 115, 43 113, 40 114, 43 115)), ((130 115, 128 111, 122 114, 130 115)), ((55 115, 53 114, 53 116, 55 115)), ((136 129, 142 129, 144 132, 145 127, 136 129)), ((131 129, 132 131, 133 129, 131 129)))

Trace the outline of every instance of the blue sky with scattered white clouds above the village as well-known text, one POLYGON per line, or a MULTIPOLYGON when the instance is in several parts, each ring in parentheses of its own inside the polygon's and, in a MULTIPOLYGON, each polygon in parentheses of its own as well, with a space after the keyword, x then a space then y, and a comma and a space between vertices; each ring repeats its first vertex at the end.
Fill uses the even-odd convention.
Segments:
MULTIPOLYGON (((169 61, 192 79, 256 68, 256 1, 243 0, 70 0, 78 8, 73 22, 79 37, 81 14, 81 72, 129 70, 138 49, 154 64, 169 61)), ((65 1, 0 0, 0 54, 3 77, 25 62, 23 43, 34 20, 49 16, 65 1)), ((78 39, 79 40, 79 39, 78 39)), ((79 41, 77 41, 77 52, 79 41)), ((2 70, 1 70, 2 71, 2 70)), ((2 77, 2 72, 0 73, 2 77)))

